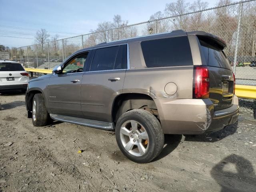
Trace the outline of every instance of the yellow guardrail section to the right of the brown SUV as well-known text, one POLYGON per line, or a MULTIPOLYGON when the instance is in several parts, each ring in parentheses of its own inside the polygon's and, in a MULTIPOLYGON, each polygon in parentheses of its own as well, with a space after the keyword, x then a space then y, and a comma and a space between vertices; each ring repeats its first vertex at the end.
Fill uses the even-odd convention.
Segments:
POLYGON ((235 94, 242 98, 256 99, 256 86, 236 85, 235 94))

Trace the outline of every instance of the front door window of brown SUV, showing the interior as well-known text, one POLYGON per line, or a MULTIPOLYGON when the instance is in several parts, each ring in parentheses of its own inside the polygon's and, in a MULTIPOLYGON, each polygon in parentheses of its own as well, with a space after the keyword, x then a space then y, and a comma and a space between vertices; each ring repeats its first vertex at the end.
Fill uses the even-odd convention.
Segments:
POLYGON ((82 72, 85 66, 85 61, 88 56, 88 52, 84 52, 73 57, 68 63, 65 64, 63 73, 76 73, 82 72))

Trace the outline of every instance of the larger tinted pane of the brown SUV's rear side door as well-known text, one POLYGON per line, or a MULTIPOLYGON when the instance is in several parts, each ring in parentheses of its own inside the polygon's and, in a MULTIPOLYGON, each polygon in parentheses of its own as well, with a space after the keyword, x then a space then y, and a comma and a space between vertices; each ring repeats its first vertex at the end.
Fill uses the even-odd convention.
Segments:
POLYGON ((90 71, 113 70, 118 47, 96 49, 90 71))

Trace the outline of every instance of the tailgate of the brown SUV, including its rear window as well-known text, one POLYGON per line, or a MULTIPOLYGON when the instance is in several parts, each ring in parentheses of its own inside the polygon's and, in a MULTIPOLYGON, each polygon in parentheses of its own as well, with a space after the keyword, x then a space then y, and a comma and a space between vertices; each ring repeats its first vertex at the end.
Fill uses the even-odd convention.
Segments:
POLYGON ((232 106, 234 95, 234 77, 230 64, 223 50, 214 40, 203 40, 201 44, 202 62, 208 66, 210 76, 210 99, 214 110, 232 106))

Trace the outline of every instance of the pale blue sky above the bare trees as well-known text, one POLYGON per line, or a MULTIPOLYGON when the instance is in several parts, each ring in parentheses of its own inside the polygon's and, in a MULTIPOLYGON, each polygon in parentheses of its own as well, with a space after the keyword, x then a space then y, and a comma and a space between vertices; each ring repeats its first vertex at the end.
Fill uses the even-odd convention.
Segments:
MULTIPOLYGON (((217 2, 204 1, 209 7, 217 2)), ((9 47, 34 44, 36 30, 40 28, 51 31, 51 36, 58 32, 60 38, 86 34, 95 30, 98 22, 112 21, 115 14, 129 24, 143 22, 155 12, 163 12, 170 2, 174 0, 1 0, 0 44, 9 47)))

